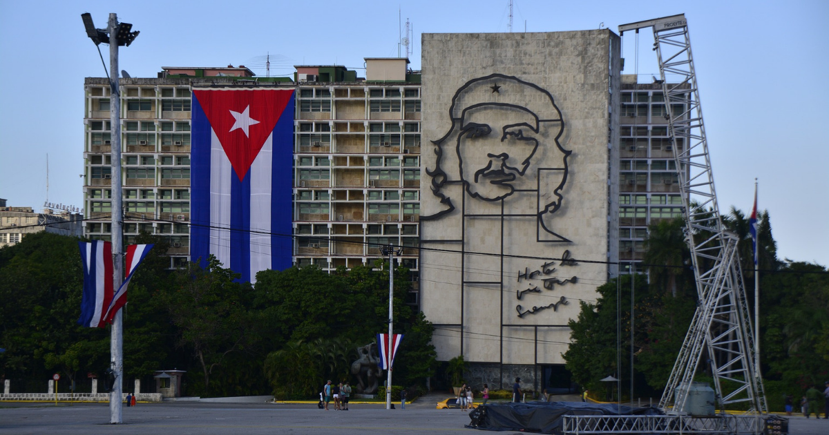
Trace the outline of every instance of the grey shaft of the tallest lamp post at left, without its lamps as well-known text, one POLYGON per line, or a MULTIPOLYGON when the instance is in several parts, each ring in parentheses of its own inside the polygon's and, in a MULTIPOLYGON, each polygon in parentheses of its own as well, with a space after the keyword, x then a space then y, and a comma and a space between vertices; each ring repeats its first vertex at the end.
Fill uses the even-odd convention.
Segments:
MULTIPOLYGON (((118 14, 109 14, 109 123, 111 135, 111 172, 112 185, 112 257, 113 257, 113 288, 118 290, 124 279, 124 233, 122 224, 122 194, 121 194, 121 95, 118 80, 118 14)), ((121 391, 124 375, 124 327, 122 310, 119 310, 112 321, 112 335, 109 340, 109 353, 112 370, 115 375, 115 384, 109 392, 109 423, 121 423, 121 391)))

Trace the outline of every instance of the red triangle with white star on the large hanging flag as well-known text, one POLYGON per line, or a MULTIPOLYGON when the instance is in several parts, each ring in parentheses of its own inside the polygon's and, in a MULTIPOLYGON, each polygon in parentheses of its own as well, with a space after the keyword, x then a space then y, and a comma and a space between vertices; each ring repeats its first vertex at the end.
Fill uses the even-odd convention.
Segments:
POLYGON ((293 90, 195 90, 193 95, 242 181, 293 98, 293 90))

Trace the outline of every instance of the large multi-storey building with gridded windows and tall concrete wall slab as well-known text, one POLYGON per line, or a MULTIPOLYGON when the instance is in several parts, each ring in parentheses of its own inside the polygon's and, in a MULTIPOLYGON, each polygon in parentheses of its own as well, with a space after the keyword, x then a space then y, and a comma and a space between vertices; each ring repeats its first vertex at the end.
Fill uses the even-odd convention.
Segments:
MULTIPOLYGON (((279 205, 290 263, 330 272, 400 247, 407 302, 434 323, 439 360, 463 355, 475 384, 568 388, 561 354, 579 302, 641 271, 647 225, 681 215, 681 139, 667 137, 661 86, 621 75, 619 45, 606 29, 424 34, 422 71, 366 58, 365 78, 229 65, 122 79, 124 239, 159 234, 171 268, 191 259, 194 94, 293 89, 292 139, 274 142, 293 155, 279 205)), ((105 78, 85 80, 84 123, 84 232, 109 239, 105 78)))

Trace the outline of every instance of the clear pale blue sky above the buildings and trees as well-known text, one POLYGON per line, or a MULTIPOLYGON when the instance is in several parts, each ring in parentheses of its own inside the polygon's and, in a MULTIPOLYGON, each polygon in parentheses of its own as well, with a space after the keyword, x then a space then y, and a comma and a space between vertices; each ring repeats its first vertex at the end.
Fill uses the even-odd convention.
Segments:
MULTIPOLYGON (((0 0, 0 197, 40 209, 83 205, 84 78, 104 76, 80 14, 110 12, 141 34, 120 68, 246 65, 290 75, 293 65, 345 65, 405 56, 420 67, 421 33, 509 31, 508 0, 142 2, 0 0), (402 22, 402 25, 401 25, 402 22)), ((778 257, 829 265, 829 2, 514 0, 512 31, 575 31, 684 13, 691 35, 720 210, 768 210, 778 257)), ((658 77, 652 33, 623 36, 623 74, 658 77), (636 59, 638 58, 638 61, 636 59)), ((109 65, 108 47, 101 46, 109 65)))

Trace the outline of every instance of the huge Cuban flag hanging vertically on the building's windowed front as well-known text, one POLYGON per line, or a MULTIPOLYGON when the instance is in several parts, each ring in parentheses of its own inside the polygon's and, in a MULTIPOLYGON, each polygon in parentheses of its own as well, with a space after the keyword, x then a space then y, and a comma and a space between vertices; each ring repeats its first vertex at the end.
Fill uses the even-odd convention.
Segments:
POLYGON ((191 126, 193 261, 254 282, 291 267, 293 89, 197 89, 191 126))

